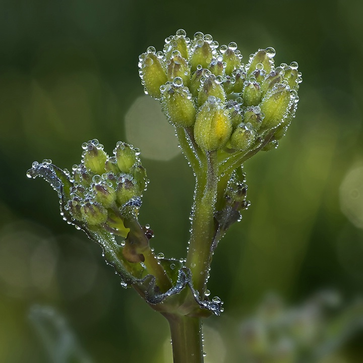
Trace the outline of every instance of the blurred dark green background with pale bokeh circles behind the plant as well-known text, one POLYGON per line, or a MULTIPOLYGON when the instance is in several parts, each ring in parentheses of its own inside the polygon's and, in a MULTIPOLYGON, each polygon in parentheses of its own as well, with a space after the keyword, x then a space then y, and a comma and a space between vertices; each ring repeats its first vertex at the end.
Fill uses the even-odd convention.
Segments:
MULTIPOLYGON (((273 46, 275 64, 298 62, 304 80, 280 147, 245 165, 252 205, 214 255, 208 287, 225 313, 205 322, 215 349, 206 347, 206 363, 240 361, 221 332, 238 344, 239 324, 268 291, 291 305, 324 288, 359 296, 362 13, 363 3, 343 0, 2 0, 0 362, 53 361, 28 319, 34 304, 62 312, 91 361, 164 361, 166 321, 120 286, 100 248, 59 216, 51 188, 25 173, 44 158, 71 169, 89 139, 109 153, 118 140, 133 143, 150 178, 140 220, 156 252, 184 257, 194 177, 137 67, 179 28, 235 41, 245 59, 273 46)), ((339 356, 361 362, 362 346, 356 333, 339 356)))

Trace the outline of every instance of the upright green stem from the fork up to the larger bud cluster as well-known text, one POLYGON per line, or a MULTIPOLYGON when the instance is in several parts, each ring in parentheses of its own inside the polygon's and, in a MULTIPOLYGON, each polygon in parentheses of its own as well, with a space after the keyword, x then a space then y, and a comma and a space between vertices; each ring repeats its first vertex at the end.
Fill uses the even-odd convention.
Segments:
POLYGON ((212 258, 217 185, 217 152, 212 151, 207 155, 207 178, 197 179, 192 233, 186 263, 192 271, 194 287, 202 299, 212 258))

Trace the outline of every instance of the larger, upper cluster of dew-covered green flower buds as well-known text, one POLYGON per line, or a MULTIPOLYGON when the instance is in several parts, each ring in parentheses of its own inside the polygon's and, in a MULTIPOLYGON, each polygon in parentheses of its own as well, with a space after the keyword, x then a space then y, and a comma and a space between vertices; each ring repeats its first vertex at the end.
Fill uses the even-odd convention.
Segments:
MULTIPOLYGON (((139 57, 145 93, 159 99, 169 122, 193 128, 205 151, 244 151, 265 135, 272 146, 295 115, 301 82, 297 63, 274 65, 275 50, 259 49, 247 64, 237 45, 219 46, 209 34, 182 29, 139 57)), ((266 146, 266 150, 270 146, 266 146)))

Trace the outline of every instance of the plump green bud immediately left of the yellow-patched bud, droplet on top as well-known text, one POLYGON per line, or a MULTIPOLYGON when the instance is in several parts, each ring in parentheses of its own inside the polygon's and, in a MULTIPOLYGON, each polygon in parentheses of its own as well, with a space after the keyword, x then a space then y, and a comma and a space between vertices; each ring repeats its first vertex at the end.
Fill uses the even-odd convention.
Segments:
POLYGON ((170 124, 176 126, 193 126, 196 109, 191 93, 183 87, 183 80, 176 77, 173 83, 161 86, 162 110, 170 124))

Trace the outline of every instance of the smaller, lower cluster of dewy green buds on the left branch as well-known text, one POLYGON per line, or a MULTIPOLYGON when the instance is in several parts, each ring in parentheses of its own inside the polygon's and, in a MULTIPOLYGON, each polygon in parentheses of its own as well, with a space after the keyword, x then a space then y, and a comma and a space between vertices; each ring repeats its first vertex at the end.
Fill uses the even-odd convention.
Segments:
MULTIPOLYGON (((64 210, 76 224, 102 225, 112 233, 126 237, 129 228, 124 225, 124 217, 141 206, 141 196, 148 183, 139 159, 140 151, 118 142, 114 156, 109 157, 96 139, 82 144, 82 148, 82 161, 73 165, 72 173, 62 170, 67 178, 59 193, 65 199, 64 210)), ((42 170, 55 168, 45 161, 34 162, 28 176, 55 178, 56 173, 52 175, 51 171, 44 175, 42 170)), ((62 183, 58 184, 60 188, 62 183)))

